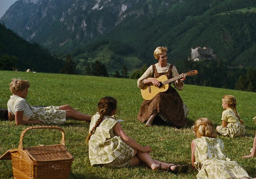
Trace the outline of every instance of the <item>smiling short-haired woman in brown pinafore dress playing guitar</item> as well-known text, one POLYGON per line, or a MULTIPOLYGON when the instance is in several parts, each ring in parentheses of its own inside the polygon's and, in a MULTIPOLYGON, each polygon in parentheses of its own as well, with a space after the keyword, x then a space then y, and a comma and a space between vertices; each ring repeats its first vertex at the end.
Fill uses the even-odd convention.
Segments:
MULTIPOLYGON (((138 79, 138 87, 144 88, 145 85, 154 85, 161 87, 161 81, 158 78, 166 75, 168 79, 179 76, 177 69, 173 64, 167 63, 167 48, 157 47, 154 51, 154 57, 158 60, 157 64, 151 65, 146 72, 138 79)), ((186 77, 182 77, 173 82, 176 89, 183 89, 183 81, 186 77)), ((144 100, 142 103, 137 118, 141 122, 146 122, 145 126, 151 126, 153 120, 158 115, 160 118, 168 123, 178 127, 183 127, 186 124, 186 116, 188 115, 188 108, 183 103, 177 91, 169 85, 165 92, 156 94, 150 100, 144 100), (185 112, 184 112, 185 111, 185 112)), ((157 118, 158 119, 158 118, 157 118)), ((161 120, 160 119, 160 120, 161 120)))

